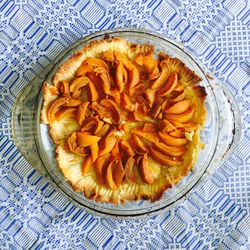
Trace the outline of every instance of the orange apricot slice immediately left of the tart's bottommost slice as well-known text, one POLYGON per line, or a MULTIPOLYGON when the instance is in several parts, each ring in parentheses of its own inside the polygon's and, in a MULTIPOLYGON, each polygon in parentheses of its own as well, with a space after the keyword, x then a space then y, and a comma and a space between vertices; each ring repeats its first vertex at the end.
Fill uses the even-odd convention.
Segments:
POLYGON ((110 163, 111 158, 112 156, 107 154, 99 156, 98 159, 95 161, 94 169, 100 184, 105 184, 105 172, 110 163))

